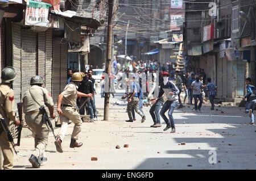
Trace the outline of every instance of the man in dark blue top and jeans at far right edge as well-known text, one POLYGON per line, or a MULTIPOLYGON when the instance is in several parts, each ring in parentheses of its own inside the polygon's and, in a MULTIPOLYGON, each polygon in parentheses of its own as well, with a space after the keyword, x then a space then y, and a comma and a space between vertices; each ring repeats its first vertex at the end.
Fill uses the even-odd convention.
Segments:
POLYGON ((243 97, 243 100, 247 99, 246 105, 245 105, 245 112, 249 113, 249 117, 251 119, 250 124, 254 125, 254 114, 253 111, 255 109, 256 104, 256 89, 253 85, 251 85, 251 78, 246 78, 246 91, 247 94, 243 97))

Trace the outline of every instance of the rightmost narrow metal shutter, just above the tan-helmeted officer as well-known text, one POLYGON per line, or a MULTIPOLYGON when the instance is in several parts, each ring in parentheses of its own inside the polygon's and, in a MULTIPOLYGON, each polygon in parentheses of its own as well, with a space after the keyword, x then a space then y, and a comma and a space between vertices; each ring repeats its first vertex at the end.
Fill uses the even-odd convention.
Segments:
POLYGON ((60 91, 67 85, 68 44, 60 45, 60 91))

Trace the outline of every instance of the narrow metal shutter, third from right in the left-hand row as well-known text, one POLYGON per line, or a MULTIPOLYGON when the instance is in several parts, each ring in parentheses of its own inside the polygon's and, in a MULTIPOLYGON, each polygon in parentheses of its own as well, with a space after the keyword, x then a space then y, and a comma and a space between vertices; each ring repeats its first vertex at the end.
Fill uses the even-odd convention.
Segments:
POLYGON ((46 89, 52 94, 52 30, 46 31, 46 89))

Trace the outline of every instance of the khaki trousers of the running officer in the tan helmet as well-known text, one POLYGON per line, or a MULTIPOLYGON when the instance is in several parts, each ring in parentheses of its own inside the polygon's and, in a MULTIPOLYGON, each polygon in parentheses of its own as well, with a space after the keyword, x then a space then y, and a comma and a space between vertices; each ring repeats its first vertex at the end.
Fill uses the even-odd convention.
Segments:
POLYGON ((58 134, 60 139, 64 140, 65 133, 68 130, 68 121, 71 120, 75 124, 71 138, 78 140, 79 133, 82 129, 82 120, 79 112, 73 107, 61 107, 61 110, 63 113, 60 115, 61 128, 58 134))

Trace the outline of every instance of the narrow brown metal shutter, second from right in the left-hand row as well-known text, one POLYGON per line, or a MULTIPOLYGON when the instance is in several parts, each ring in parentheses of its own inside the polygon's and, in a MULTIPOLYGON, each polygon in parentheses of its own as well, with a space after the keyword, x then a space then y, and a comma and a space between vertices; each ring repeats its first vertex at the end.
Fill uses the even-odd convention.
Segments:
POLYGON ((52 46, 52 98, 56 104, 60 94, 60 39, 53 39, 52 46))

